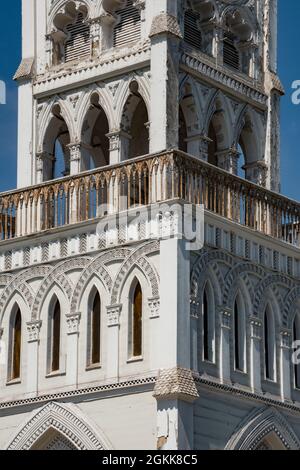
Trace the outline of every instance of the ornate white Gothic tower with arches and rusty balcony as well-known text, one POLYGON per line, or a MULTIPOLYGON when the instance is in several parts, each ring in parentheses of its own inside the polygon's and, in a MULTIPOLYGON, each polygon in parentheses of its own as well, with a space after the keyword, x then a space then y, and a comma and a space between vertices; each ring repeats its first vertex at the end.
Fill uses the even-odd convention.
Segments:
POLYGON ((0 447, 300 448, 277 1, 22 3, 0 447))

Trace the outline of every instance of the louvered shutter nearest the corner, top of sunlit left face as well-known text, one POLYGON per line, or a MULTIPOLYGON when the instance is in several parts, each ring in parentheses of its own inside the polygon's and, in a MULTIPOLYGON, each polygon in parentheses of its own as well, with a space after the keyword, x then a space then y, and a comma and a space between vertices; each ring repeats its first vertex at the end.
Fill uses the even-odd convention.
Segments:
POLYGON ((141 14, 134 8, 132 0, 128 0, 127 6, 118 10, 116 15, 120 20, 114 28, 114 47, 138 42, 141 39, 141 14))

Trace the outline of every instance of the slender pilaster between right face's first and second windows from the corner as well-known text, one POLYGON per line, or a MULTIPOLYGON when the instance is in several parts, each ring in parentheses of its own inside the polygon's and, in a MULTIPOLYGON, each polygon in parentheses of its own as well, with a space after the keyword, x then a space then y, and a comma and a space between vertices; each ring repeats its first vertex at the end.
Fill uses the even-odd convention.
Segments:
POLYGON ((221 338, 220 338, 220 380, 222 383, 231 382, 230 371, 230 332, 232 312, 221 308, 221 338))

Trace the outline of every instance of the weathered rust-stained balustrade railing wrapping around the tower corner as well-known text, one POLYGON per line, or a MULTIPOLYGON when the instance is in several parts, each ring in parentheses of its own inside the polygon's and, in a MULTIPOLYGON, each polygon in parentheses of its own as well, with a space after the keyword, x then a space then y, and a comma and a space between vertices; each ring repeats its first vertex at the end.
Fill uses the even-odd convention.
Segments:
POLYGON ((180 199, 300 244, 300 204, 178 151, 0 194, 0 240, 180 199))

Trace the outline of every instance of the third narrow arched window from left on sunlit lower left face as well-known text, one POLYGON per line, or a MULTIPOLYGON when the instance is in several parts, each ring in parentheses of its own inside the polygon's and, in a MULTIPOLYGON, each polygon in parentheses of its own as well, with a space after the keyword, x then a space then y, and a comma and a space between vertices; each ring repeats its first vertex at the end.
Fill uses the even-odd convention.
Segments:
POLYGON ((98 291, 96 291, 91 305, 89 331, 89 365, 95 366, 101 362, 101 299, 98 291))

